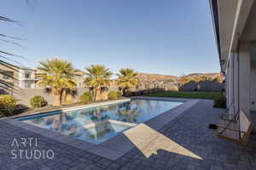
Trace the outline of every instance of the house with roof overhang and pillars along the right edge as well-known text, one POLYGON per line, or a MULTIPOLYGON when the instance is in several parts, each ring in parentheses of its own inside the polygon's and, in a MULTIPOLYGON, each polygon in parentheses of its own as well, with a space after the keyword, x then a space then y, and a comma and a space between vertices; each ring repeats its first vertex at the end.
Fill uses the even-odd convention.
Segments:
POLYGON ((256 111, 256 2, 210 0, 227 107, 256 111))

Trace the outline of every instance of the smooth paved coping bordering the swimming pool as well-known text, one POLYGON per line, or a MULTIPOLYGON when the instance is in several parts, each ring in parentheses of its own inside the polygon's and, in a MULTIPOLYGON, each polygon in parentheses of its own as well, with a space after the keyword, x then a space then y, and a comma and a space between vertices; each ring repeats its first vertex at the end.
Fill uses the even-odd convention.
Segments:
MULTIPOLYGON (((187 111, 189 108, 191 108, 193 105, 195 105, 200 99, 177 99, 177 98, 160 98, 160 97, 144 97, 144 96, 137 96, 132 97, 131 99, 154 99, 154 100, 161 100, 161 101, 177 101, 177 102, 183 102, 182 105, 177 105, 177 107, 172 108, 169 111, 165 111, 161 113, 158 116, 155 116, 151 119, 149 119, 146 122, 140 123, 135 127, 131 127, 130 129, 126 130, 123 133, 119 133, 118 135, 114 136, 111 139, 108 139, 107 141, 102 142, 101 144, 92 144, 89 142, 85 142, 80 139, 75 139, 71 136, 67 136, 61 133, 57 133, 54 130, 49 130, 41 127, 36 127, 31 124, 28 124, 26 122, 20 122, 16 120, 15 118, 21 118, 26 116, 15 116, 15 117, 4 117, 1 118, 3 122, 8 122, 9 124, 12 124, 15 127, 21 127, 26 129, 27 131, 31 131, 32 133, 40 134, 44 137, 47 137, 49 139, 55 140, 57 142, 61 142, 63 144, 67 144, 70 146, 73 146, 75 148, 78 148, 80 150, 86 150, 90 153, 93 153, 97 156, 102 156, 105 158, 108 158, 109 160, 116 161, 119 159, 119 157, 124 156, 125 153, 127 153, 129 150, 136 147, 135 144, 133 144, 130 139, 128 139, 125 136, 125 133, 137 134, 141 133, 142 129, 141 126, 147 125, 148 127, 158 131, 161 127, 164 127, 167 123, 171 122, 174 118, 177 116, 180 116, 184 111, 187 111), (170 114, 172 113, 172 114, 170 114)), ((62 111, 72 111, 76 109, 84 109, 84 108, 90 108, 100 105, 110 105, 120 102, 129 101, 131 99, 120 99, 115 101, 108 101, 108 102, 101 102, 93 105, 83 105, 78 107, 71 107, 71 108, 65 108, 62 111)), ((49 112, 49 111, 47 111, 49 112)), ((45 114, 44 113, 36 113, 36 114, 30 114, 28 116, 35 116, 45 114)), ((147 132, 145 132, 147 133, 147 132)), ((143 141, 141 141, 143 142, 143 141)))

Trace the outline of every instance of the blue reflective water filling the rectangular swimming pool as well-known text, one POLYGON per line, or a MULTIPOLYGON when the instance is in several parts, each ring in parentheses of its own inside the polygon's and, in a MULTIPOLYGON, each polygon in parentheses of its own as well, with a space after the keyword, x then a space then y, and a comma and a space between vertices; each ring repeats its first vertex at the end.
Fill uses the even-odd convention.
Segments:
POLYGON ((105 140, 168 111, 180 102, 132 99, 129 102, 65 112, 49 112, 19 120, 53 129, 77 139, 100 144, 105 140))

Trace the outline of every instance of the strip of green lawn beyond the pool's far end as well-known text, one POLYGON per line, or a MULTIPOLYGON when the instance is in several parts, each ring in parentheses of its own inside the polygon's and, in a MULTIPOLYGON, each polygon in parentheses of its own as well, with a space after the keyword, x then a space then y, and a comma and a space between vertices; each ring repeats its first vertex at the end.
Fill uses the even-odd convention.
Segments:
POLYGON ((160 92, 155 94, 144 94, 149 97, 168 97, 168 98, 189 98, 189 99, 216 99, 221 95, 220 92, 160 92))

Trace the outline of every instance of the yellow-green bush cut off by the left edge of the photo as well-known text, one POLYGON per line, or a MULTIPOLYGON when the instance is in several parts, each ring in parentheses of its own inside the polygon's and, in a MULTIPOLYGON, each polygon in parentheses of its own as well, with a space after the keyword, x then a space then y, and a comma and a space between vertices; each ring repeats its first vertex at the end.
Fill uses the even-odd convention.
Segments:
POLYGON ((12 116, 17 101, 11 95, 0 95, 0 116, 12 116))

